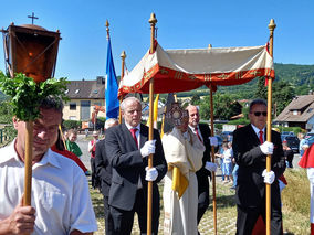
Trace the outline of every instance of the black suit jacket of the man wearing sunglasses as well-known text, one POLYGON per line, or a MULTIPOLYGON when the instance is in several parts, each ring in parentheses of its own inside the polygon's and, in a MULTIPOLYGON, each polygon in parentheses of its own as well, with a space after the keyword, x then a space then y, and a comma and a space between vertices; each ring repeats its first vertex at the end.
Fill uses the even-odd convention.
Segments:
MULTIPOLYGON (((264 137, 266 137, 266 133, 264 133, 264 137)), ((271 185, 271 199, 272 204, 280 205, 280 189, 276 179, 285 170, 280 133, 272 130, 271 141, 274 145, 271 170, 275 173, 275 181, 271 185)), ((255 207, 264 203, 265 200, 265 183, 262 172, 266 168, 266 156, 261 151, 260 145, 261 142, 251 125, 233 132, 232 148, 239 165, 236 201, 242 206, 255 207)))

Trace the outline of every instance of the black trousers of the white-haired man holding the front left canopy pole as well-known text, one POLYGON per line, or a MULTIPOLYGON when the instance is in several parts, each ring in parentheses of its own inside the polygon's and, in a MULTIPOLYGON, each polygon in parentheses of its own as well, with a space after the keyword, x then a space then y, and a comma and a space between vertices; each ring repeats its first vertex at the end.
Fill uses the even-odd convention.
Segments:
MULTIPOLYGON (((159 202, 153 203, 153 216, 151 216, 151 234, 158 234, 159 225, 159 202)), ((136 200, 132 211, 124 211, 117 207, 109 206, 111 215, 114 224, 114 235, 128 235, 132 233, 134 214, 137 213, 138 225, 140 234, 147 233, 147 199, 145 197, 143 189, 138 189, 136 193, 136 200)))

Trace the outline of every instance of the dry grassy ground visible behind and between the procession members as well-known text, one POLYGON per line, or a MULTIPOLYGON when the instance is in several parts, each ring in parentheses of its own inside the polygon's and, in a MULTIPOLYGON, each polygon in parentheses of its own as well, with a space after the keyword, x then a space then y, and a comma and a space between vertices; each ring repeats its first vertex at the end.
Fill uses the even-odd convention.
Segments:
MULTIPOLYGON (((284 173, 287 186, 282 192, 283 227, 285 234, 308 235, 310 234, 310 186, 306 171, 303 169, 287 169, 284 173)), ((236 234, 237 206, 234 203, 234 191, 229 190, 229 184, 221 184, 217 178, 217 231, 220 235, 236 234)), ((159 185, 160 192, 163 184, 159 185)), ((161 194, 161 193, 160 193, 161 194)), ((92 201, 96 214, 98 231, 94 234, 104 234, 105 222, 103 212, 103 196, 97 190, 91 189, 92 201)), ((210 192, 210 195, 212 193, 210 192)), ((163 199, 161 199, 163 200, 163 199)), ((132 234, 139 234, 137 218, 134 220, 132 234)), ((161 202, 161 216, 159 234, 163 234, 164 211, 161 202)), ((214 234, 213 212, 210 204, 200 224, 199 232, 202 235, 214 234)))

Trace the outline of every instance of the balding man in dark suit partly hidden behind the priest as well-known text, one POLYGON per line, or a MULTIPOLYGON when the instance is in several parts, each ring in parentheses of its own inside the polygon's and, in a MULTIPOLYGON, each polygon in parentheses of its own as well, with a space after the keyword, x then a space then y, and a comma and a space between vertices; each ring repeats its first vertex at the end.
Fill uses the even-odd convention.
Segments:
POLYGON ((199 110, 197 106, 189 105, 186 108, 189 113, 189 128, 196 133, 199 140, 203 143, 206 150, 202 158, 202 168, 196 172, 198 180, 198 217, 199 224, 202 215, 209 206, 209 181, 210 171, 217 170, 217 164, 211 162, 211 145, 217 146, 217 138, 211 137, 211 131, 208 125, 199 124, 199 110))

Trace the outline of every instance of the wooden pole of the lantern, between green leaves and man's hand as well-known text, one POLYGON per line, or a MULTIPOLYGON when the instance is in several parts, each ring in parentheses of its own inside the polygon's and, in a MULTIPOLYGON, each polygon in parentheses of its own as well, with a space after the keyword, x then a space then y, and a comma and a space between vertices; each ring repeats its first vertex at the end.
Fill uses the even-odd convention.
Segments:
POLYGON ((23 205, 31 205, 32 195, 32 159, 33 159, 33 122, 25 121, 25 153, 24 153, 24 199, 23 205))

